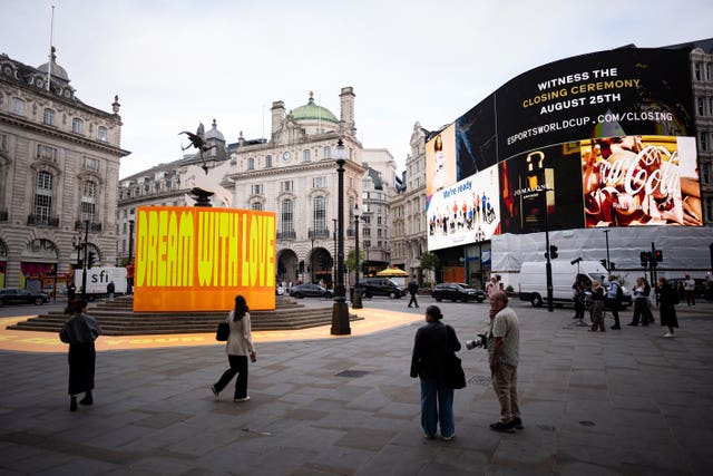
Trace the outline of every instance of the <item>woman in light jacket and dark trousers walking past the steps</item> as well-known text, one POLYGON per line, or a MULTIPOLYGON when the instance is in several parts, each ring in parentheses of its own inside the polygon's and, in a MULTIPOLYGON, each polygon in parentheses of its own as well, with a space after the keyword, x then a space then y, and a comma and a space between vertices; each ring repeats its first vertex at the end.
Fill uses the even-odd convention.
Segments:
POLYGON ((231 367, 223 372, 223 376, 211 386, 211 391, 218 398, 218 395, 237 375, 235 380, 235 394, 233 401, 247 401, 247 356, 251 361, 255 361, 255 347, 253 346, 253 336, 251 333, 250 309, 245 302, 245 298, 241 294, 235 297, 235 309, 233 309, 226 319, 231 327, 231 333, 227 338, 225 351, 227 361, 231 367))

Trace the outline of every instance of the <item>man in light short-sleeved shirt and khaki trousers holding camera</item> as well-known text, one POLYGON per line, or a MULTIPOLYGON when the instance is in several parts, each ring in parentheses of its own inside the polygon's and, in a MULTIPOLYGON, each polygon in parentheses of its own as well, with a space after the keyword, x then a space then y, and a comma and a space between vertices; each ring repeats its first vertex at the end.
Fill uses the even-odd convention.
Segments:
POLYGON ((488 331, 488 353, 492 388, 500 402, 500 420, 490 429, 515 433, 522 429, 520 408, 517 405, 517 366, 520 353, 520 323, 512 308, 508 307, 508 295, 495 291, 490 295, 490 328, 488 331))

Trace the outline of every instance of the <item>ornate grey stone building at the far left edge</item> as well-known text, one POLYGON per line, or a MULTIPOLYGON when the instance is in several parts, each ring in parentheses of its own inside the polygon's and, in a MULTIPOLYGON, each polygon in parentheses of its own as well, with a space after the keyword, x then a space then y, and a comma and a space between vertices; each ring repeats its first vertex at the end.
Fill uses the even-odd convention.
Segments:
POLYGON ((0 56, 0 286, 61 290, 85 251, 116 262, 120 143, 118 97, 82 103, 53 48, 37 68, 0 56))

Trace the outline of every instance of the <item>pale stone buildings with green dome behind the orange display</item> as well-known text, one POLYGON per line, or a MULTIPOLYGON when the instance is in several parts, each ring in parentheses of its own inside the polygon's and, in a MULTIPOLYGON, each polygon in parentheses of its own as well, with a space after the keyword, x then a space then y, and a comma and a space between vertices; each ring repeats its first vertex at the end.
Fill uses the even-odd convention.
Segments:
MULTIPOLYGON (((385 149, 364 149, 356 139, 353 89, 342 88, 339 98, 339 118, 315 104, 312 94, 306 105, 290 111, 282 100, 274 101, 270 138, 246 139, 241 133, 236 143, 227 144, 215 123, 205 134, 206 143, 216 145, 206 153, 205 165, 209 173, 217 167, 226 171, 221 185, 232 193, 231 206, 276 214, 279 282, 322 281, 330 285, 334 281, 339 204, 335 161, 340 140, 346 159, 343 175, 345 258, 355 245, 355 204, 373 214, 369 221, 374 223, 374 235, 382 239, 374 242, 374 256, 385 260, 389 255, 388 197, 395 179, 393 157, 385 149), (379 177, 383 195, 371 191, 364 195, 364 177, 372 183, 372 176, 379 177)), ((121 181, 119 258, 128 258, 133 211, 140 205, 188 204, 186 168, 201 162, 189 155, 121 181)), ((214 206, 221 204, 214 202, 214 206)), ((360 227, 360 233, 371 235, 372 229, 360 227)))

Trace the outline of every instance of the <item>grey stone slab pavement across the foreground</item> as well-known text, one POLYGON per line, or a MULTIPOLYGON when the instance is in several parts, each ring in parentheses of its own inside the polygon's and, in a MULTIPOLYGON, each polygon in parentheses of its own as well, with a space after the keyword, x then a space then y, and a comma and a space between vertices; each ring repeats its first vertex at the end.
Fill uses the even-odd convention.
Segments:
MULTIPOLYGON (((406 303, 364 307, 421 313, 431 301, 406 303)), ((487 324, 487 303, 440 305, 461 343, 487 324)), ((713 473, 713 304, 678 305, 675 339, 657 323, 587 332, 572 310, 512 307, 526 426, 515 435, 489 429, 499 407, 487 353, 473 349, 460 352, 469 383, 456 392, 457 437, 423 439, 409 377, 420 321, 257 342, 242 404, 232 385, 217 401, 207 388, 226 368, 221 346, 100 352, 96 404, 77 412, 64 353, 0 351, 0 475, 713 473)))

